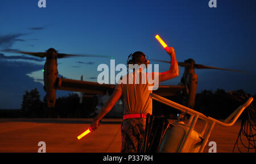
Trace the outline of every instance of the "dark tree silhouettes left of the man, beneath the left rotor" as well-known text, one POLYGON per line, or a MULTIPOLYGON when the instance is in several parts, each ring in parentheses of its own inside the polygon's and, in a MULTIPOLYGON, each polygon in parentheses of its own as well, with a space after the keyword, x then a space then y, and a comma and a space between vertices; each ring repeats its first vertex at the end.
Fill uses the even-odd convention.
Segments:
POLYGON ((97 97, 85 98, 80 103, 76 93, 61 96, 56 99, 54 108, 47 107, 46 96, 40 99, 39 91, 35 88, 23 95, 21 110, 0 110, 0 117, 23 118, 88 118, 96 115, 97 97))

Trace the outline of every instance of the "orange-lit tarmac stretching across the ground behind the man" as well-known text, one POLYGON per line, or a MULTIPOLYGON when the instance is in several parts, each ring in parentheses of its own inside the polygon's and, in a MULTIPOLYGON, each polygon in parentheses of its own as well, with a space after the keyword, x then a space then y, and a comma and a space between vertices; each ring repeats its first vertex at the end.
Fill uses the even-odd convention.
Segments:
MULTIPOLYGON (((37 153, 40 141, 47 153, 119 153, 122 119, 102 119, 100 127, 81 140, 77 136, 89 128, 92 119, 0 119, 1 153, 37 153)), ((203 123, 197 123, 203 126, 203 123)), ((209 142, 217 144, 217 153, 231 153, 240 131, 215 125, 209 142)), ((207 153, 210 146, 205 146, 207 153)), ((241 146, 242 148, 242 146, 241 146)), ((241 149, 246 152, 246 149, 241 149)), ((237 152, 237 151, 236 151, 237 152)))

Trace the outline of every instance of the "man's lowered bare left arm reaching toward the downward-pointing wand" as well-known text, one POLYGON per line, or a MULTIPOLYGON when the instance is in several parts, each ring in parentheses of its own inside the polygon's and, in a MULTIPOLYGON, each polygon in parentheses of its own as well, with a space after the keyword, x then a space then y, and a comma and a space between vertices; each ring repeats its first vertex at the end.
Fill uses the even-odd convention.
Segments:
POLYGON ((111 96, 111 98, 104 104, 102 110, 100 111, 100 113, 98 113, 98 115, 94 118, 92 124, 90 125, 90 127, 92 129, 97 129, 100 120, 110 111, 112 110, 114 104, 119 100, 119 98, 122 95, 122 91, 119 90, 115 90, 111 96))

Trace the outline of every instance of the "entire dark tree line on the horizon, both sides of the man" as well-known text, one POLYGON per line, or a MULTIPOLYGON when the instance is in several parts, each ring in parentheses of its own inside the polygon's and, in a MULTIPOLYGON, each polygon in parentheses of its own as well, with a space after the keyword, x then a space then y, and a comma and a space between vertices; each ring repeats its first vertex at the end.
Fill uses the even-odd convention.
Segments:
MULTIPOLYGON (((253 96, 255 98, 255 95, 253 96)), ((172 96, 168 99, 180 103, 179 98, 172 96)), ((96 115, 97 96, 83 98, 76 93, 61 96, 56 99, 54 108, 48 108, 46 96, 40 100, 39 91, 35 88, 26 91, 23 95, 21 110, 0 110, 0 117, 24 117, 24 118, 92 118, 96 115)), ((233 99, 229 92, 223 89, 203 90, 196 94, 195 110, 216 119, 225 119, 241 103, 233 99)), ((255 100, 253 101, 255 106, 255 100)), ((177 115, 179 111, 171 109, 164 104, 153 101, 154 115, 177 115)))

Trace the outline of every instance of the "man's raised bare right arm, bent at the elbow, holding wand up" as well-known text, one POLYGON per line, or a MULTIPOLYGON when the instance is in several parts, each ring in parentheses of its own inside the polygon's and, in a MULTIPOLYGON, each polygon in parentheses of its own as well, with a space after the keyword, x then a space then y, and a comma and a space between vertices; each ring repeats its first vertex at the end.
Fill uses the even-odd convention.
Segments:
POLYGON ((171 56, 171 66, 166 72, 159 73, 160 82, 179 76, 179 66, 177 64, 174 48, 166 47, 166 52, 171 56))

